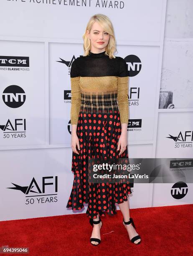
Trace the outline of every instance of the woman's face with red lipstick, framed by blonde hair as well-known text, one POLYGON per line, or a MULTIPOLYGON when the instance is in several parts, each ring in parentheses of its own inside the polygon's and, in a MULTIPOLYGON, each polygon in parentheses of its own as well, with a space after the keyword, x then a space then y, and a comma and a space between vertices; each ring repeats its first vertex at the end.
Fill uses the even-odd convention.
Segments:
POLYGON ((88 30, 86 32, 91 39, 91 52, 99 53, 105 51, 105 47, 109 43, 109 33, 104 31, 98 22, 92 25, 90 33, 88 30))

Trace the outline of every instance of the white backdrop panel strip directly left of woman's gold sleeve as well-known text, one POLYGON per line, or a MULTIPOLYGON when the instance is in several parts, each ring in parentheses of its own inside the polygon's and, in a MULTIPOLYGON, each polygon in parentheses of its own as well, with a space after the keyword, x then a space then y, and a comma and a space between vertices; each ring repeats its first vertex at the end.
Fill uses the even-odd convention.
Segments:
POLYGON ((81 44, 49 44, 49 84, 50 84, 50 144, 70 144, 71 143, 71 92, 70 70, 71 62, 83 54, 81 44), (61 63, 68 61, 67 63, 61 63), (64 94, 69 96, 64 99, 64 94), (69 127, 68 127, 69 125, 69 127), (69 129, 69 130, 68 130, 69 129))

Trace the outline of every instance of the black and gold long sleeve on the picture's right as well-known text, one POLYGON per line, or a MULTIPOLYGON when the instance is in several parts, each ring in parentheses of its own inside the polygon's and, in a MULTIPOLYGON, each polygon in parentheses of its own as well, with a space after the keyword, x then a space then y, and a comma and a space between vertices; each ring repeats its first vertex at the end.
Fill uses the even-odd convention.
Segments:
POLYGON ((120 121, 127 123, 129 120, 129 102, 128 102, 128 69, 124 59, 120 59, 119 74, 117 77, 117 102, 119 105, 120 121))

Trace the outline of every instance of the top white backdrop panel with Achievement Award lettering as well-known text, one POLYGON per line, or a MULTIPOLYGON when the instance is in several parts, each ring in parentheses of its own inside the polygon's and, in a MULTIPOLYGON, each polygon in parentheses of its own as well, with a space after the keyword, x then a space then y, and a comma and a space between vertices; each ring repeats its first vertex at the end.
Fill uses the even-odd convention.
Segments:
POLYGON ((118 40, 160 41, 162 9, 165 1, 71 1, 80 6, 70 6, 70 1, 64 0, 51 1, 54 4, 46 4, 46 1, 43 4, 43 0, 38 2, 40 3, 36 0, 17 0, 17 2, 1 0, 0 9, 3 10, 1 19, 6 21, 6 26, 1 27, 1 35, 82 40, 86 23, 91 15, 103 13, 113 20, 118 40), (86 6, 82 2, 86 2, 86 6), (102 2, 106 2, 107 6, 102 5, 102 2), (110 2, 113 8, 109 7, 110 2), (114 7, 115 2, 118 5, 114 7), (121 2, 124 5, 120 5, 121 2))

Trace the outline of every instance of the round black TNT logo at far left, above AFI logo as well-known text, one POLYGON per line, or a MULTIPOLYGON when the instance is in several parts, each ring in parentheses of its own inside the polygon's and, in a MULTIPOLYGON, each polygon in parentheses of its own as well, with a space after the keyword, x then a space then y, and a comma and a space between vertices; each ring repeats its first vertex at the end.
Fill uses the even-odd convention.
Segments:
POLYGON ((10 85, 3 91, 3 102, 10 108, 19 108, 25 102, 25 92, 18 85, 10 85))

